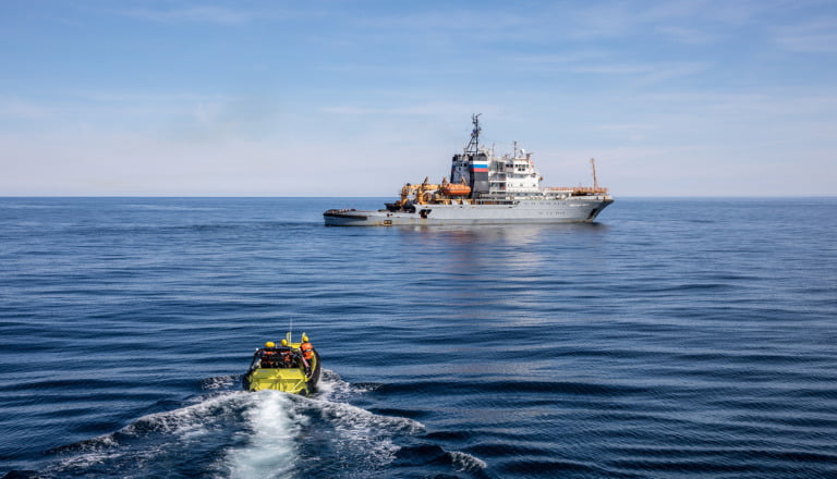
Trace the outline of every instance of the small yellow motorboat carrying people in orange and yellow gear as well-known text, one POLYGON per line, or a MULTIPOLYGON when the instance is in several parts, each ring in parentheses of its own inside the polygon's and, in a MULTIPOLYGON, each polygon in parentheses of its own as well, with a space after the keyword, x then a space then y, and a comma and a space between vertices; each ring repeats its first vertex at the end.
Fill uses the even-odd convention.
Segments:
POLYGON ((272 341, 256 349, 247 373, 242 378, 244 390, 282 391, 310 395, 319 381, 319 353, 302 333, 299 343, 291 342, 291 333, 276 345, 272 341))

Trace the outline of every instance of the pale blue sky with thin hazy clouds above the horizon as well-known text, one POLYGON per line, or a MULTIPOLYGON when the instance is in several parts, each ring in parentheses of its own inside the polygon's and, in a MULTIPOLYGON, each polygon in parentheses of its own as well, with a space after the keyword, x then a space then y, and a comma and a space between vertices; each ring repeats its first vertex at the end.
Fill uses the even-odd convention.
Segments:
POLYGON ((0 1, 0 196, 837 195, 837 2, 0 1))

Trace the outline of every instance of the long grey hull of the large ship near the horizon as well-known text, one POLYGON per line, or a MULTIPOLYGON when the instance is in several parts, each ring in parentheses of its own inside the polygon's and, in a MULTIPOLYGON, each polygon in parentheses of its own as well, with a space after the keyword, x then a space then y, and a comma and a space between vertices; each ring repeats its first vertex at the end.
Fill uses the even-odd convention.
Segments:
POLYGON ((520 200, 512 205, 415 205, 415 212, 328 210, 327 226, 583 223, 595 220, 611 198, 520 200))

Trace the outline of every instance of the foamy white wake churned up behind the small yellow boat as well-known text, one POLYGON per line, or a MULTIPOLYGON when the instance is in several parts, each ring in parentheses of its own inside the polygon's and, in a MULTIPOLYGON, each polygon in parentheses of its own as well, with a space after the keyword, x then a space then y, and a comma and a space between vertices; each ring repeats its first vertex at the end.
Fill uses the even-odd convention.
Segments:
MULTIPOLYGON (((33 477, 391 477, 402 444, 424 433, 413 419, 349 404, 372 386, 331 371, 312 397, 245 393, 238 384, 235 377, 205 380, 194 404, 59 447, 33 477)), ((463 453, 445 455, 450 472, 485 467, 463 453)))

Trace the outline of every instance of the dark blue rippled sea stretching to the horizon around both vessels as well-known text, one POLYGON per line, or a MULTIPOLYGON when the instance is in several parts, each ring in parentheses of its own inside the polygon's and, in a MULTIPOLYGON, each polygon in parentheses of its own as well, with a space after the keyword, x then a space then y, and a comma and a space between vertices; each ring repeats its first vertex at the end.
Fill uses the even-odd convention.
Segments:
POLYGON ((837 477, 837 199, 0 199, 0 476, 837 477), (293 321, 310 398, 240 392, 293 321))

